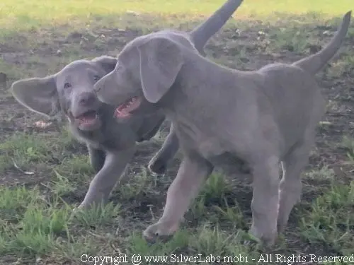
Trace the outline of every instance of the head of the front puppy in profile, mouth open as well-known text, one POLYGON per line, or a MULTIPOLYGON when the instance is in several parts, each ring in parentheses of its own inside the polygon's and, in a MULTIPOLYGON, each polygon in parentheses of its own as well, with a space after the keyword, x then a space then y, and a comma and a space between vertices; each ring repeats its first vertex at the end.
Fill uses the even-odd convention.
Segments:
POLYGON ((118 54, 115 69, 95 84, 98 98, 119 105, 117 117, 149 112, 176 81, 183 66, 181 47, 161 33, 137 37, 118 54))

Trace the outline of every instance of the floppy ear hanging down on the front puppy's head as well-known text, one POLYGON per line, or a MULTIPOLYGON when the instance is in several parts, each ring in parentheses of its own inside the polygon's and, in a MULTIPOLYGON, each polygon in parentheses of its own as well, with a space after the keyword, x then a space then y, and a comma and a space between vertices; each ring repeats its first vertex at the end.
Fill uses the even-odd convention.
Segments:
POLYGON ((155 37, 137 49, 142 92, 147 101, 156 103, 171 88, 181 70, 181 48, 171 40, 155 37))

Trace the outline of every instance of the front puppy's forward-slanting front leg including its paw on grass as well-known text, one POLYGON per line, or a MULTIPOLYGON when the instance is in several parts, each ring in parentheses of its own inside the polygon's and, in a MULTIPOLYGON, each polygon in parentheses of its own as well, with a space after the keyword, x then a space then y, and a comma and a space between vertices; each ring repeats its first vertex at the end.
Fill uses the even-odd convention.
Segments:
POLYGON ((178 229, 183 215, 197 196, 201 185, 212 172, 212 165, 199 155, 185 155, 167 192, 164 213, 160 220, 144 230, 146 240, 169 237, 178 229))

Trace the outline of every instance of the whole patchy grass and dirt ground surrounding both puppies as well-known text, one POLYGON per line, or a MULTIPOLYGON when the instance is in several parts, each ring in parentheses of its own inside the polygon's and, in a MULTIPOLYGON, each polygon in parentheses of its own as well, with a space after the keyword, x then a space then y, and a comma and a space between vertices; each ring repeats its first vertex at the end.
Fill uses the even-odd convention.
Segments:
MULTIPOLYGON (((207 45, 207 53, 219 64, 245 70, 295 61, 329 41, 338 16, 353 7, 351 2, 245 0, 236 19, 207 45)), ((109 204, 73 215, 94 175, 85 146, 60 122, 52 120, 46 129, 35 126, 43 117, 19 107, 8 93, 18 78, 52 74, 78 58, 114 55, 139 34, 193 28, 220 4, 222 0, 1 2, 0 72, 8 81, 0 85, 0 264, 81 264, 89 259, 96 264, 114 264, 115 259, 118 264, 125 257, 130 264, 134 254, 169 256, 166 262, 155 257, 142 264, 196 264, 198 255, 206 264, 217 257, 224 264, 259 264, 266 262, 265 254, 273 255, 273 263, 285 263, 292 255, 307 262, 310 255, 352 257, 353 25, 341 55, 318 75, 329 98, 327 113, 303 174, 302 201, 272 250, 247 233, 249 178, 217 172, 169 242, 149 245, 142 239, 142 230, 161 216, 179 163, 177 157, 164 177, 145 170, 163 133, 139 147, 128 168, 130 181, 115 188, 109 204)), ((321 264, 319 259, 313 263, 321 264)))

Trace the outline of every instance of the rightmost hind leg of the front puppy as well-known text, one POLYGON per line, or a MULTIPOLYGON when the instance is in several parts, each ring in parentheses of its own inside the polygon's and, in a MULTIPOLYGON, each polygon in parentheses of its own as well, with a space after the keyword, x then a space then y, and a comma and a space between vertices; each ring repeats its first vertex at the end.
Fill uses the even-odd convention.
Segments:
POLYGON ((280 181, 280 202, 278 212, 278 232, 287 225, 290 212, 301 199, 301 172, 309 160, 311 143, 302 143, 285 156, 282 161, 282 179, 280 181))

